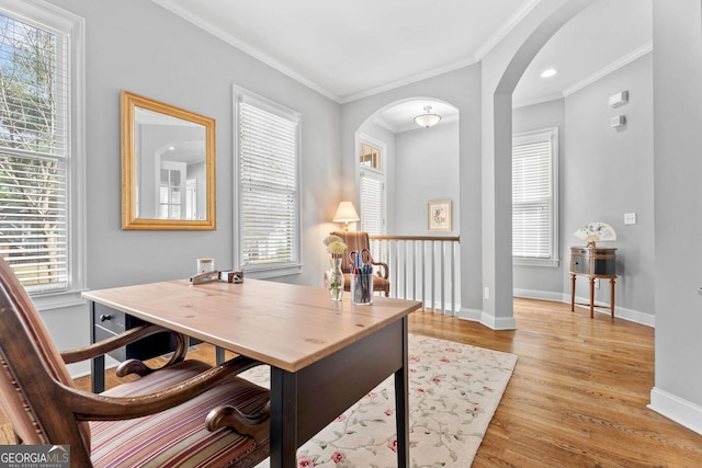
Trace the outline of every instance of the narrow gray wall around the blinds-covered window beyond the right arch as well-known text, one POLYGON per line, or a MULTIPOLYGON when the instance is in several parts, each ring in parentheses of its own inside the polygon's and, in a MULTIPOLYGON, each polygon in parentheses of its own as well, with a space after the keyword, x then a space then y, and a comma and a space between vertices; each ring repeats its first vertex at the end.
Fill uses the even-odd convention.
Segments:
MULTIPOLYGON (((548 101, 541 104, 518 107, 512 111, 512 132, 539 130, 543 128, 558 127, 558 173, 563 174, 563 161, 567 157, 565 151, 567 132, 565 130, 565 101, 563 99, 548 101)), ((565 210, 564 193, 567 186, 558 184, 558 219, 563 220, 565 210)), ((564 253, 564 231, 558 231, 558 266, 526 266, 514 265, 513 281, 514 295, 520 297, 534 297, 540 299, 562 300, 563 277, 567 273, 567 253, 564 253), (564 273, 565 272, 565 273, 564 273)))

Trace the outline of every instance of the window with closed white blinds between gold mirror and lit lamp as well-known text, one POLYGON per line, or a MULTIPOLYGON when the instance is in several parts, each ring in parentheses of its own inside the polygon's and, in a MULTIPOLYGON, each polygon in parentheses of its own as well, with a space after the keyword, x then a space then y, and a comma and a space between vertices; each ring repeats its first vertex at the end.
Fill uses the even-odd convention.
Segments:
POLYGON ((299 115, 235 89, 238 265, 265 276, 299 269, 299 115))

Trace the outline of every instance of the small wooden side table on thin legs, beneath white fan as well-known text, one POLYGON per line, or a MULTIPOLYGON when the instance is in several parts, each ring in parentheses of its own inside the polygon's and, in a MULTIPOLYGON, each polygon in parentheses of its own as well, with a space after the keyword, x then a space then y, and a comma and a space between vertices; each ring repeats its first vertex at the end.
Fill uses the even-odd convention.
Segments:
MULTIPOLYGON (((610 315, 614 317, 614 281, 616 279, 616 249, 599 247, 570 248, 570 311, 575 311, 575 278, 577 275, 590 279, 590 318, 595 316, 595 281, 610 281, 610 315)), ((581 303, 578 303, 581 304, 581 303)))

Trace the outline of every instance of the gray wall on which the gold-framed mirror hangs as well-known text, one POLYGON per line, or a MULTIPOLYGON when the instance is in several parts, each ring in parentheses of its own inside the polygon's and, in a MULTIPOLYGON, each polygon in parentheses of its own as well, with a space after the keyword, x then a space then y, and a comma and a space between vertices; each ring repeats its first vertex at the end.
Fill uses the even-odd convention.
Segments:
MULTIPOLYGON (((233 266, 233 84, 302 114, 304 270, 280 279, 321 285, 327 267, 321 240, 337 227, 331 217, 340 198, 340 106, 154 2, 50 1, 86 19, 88 287, 184 278, 199 256, 214 258, 220 269, 233 266), (121 229, 123 89, 216 119, 216 230, 121 229)), ((60 349, 89 342, 87 306, 43 317, 60 349)))

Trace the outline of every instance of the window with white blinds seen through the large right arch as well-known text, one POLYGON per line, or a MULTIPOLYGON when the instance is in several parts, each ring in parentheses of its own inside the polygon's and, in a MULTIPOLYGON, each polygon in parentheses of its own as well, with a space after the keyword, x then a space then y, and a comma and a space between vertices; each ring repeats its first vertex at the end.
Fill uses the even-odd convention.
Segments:
POLYGON ((512 258, 516 264, 557 265, 558 128, 512 139, 512 258))

